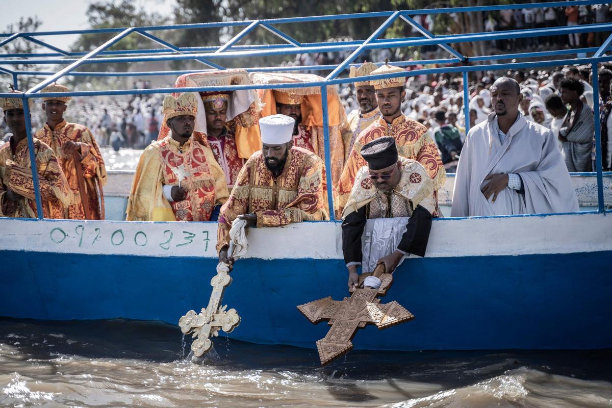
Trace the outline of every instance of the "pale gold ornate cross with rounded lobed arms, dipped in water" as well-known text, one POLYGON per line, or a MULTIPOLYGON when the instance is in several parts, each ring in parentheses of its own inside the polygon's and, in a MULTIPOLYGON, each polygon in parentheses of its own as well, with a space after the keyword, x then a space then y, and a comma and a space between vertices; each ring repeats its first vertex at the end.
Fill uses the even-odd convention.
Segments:
POLYGON ((240 316, 235 309, 226 310, 227 305, 220 307, 226 287, 230 286, 231 276, 224 264, 217 266, 217 275, 211 280, 212 294, 207 308, 199 314, 190 310, 179 319, 179 327, 186 335, 192 333, 197 337, 191 346, 193 354, 200 357, 212 347, 211 336, 218 336, 219 329, 230 333, 240 324, 240 316))

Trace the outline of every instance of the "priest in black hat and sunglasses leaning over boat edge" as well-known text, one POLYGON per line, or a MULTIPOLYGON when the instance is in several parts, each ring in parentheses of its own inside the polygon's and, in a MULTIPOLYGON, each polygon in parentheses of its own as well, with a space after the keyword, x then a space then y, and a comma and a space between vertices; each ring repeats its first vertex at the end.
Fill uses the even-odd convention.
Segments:
MULTIPOLYGON (((418 161, 398 155, 394 138, 370 141, 360 154, 368 165, 357 172, 342 214, 342 251, 349 289, 359 282, 357 265, 362 265, 362 235, 368 219, 410 217, 397 247, 394 237, 378 239, 379 249, 369 253, 376 264, 384 264, 386 273, 393 273, 405 256, 425 256, 435 208, 433 180, 418 161)), ((363 272, 373 272, 365 269, 363 272)))

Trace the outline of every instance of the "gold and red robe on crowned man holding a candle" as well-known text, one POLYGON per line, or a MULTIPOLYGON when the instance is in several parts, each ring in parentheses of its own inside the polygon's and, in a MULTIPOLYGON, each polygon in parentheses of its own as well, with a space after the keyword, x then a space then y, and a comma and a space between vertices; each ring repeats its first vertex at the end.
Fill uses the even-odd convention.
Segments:
MULTIPOLYGON (((195 133, 195 132, 194 132, 195 133)), ((171 136, 154 141, 140 156, 130 199, 128 221, 209 221, 215 206, 228 198, 225 174, 215 161, 206 135, 196 135, 181 147, 171 136), (187 190, 183 201, 166 199, 164 185, 187 190)))

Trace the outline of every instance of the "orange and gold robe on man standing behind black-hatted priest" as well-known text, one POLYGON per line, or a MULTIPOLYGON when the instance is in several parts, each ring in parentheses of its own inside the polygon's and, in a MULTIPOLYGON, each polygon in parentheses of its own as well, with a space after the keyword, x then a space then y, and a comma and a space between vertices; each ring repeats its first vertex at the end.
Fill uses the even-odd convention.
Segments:
POLYGON ((401 157, 419 161, 427 170, 431 180, 433 180, 435 209, 432 215, 433 217, 441 217, 437 191, 444 185, 446 171, 444 165, 442 165, 438 146, 431 139, 426 127, 404 115, 396 117, 392 124, 387 124, 381 117, 357 136, 338 184, 338 206, 340 209, 344 209, 346 206, 357 172, 367 165, 364 158, 361 157, 361 148, 364 144, 383 136, 395 138, 398 154, 401 157))

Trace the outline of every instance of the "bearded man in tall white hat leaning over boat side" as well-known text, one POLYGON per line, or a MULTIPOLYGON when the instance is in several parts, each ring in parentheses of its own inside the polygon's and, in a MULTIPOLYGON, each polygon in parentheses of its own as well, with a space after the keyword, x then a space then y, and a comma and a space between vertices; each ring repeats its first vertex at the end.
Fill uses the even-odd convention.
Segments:
POLYGON ((282 114, 259 119, 261 150, 244 165, 230 198, 221 208, 217 227, 219 262, 228 257, 234 220, 247 227, 278 227, 301 221, 329 219, 323 190, 323 160, 293 146, 295 121, 282 114))

